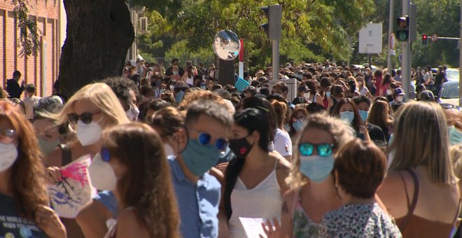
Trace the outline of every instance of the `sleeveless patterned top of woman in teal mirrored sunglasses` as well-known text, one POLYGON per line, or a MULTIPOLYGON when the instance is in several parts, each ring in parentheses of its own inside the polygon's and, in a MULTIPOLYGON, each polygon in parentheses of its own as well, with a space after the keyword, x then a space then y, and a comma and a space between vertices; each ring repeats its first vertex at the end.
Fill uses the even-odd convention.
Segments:
POLYGON ((323 231, 321 223, 311 221, 309 216, 303 211, 302 204, 300 204, 300 188, 295 190, 293 207, 292 207, 292 237, 319 237, 323 231))

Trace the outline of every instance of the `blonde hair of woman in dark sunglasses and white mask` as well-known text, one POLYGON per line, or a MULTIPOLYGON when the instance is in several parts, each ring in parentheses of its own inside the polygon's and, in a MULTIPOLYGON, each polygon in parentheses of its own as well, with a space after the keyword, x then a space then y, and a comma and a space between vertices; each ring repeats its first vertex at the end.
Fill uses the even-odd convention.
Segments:
POLYGON ((73 107, 77 102, 88 100, 94 106, 97 106, 104 116, 107 118, 106 126, 119 125, 130 123, 122 104, 116 94, 111 90, 111 87, 106 83, 92 83, 85 85, 80 90, 73 94, 62 110, 57 114, 58 123, 64 123, 67 120, 67 114, 73 111, 73 107))

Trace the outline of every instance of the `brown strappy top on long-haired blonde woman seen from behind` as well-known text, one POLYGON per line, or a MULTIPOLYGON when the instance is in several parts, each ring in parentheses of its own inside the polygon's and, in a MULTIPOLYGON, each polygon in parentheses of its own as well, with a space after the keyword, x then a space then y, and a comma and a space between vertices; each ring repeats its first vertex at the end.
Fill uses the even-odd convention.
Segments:
POLYGON ((450 237, 451 232, 454 230, 454 223, 456 222, 461 208, 461 202, 459 201, 454 221, 452 223, 430 221, 426 218, 414 215, 414 209, 416 208, 417 200, 419 199, 419 180, 411 169, 407 169, 407 172, 411 174, 412 179, 414 180, 414 195, 412 196, 412 203, 409 204, 406 183, 402 174, 400 174, 402 183, 404 183, 405 186, 407 200, 406 216, 396 219, 396 224, 398 224, 401 230, 402 237, 450 237))

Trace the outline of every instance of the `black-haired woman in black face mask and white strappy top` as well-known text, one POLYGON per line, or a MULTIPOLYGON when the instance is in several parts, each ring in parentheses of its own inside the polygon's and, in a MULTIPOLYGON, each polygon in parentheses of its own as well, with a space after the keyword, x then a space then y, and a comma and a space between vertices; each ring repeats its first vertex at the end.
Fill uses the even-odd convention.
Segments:
POLYGON ((225 172, 219 214, 220 232, 227 237, 246 237, 239 217, 281 216, 290 163, 269 153, 269 132, 269 121, 262 111, 245 109, 235 114, 229 146, 236 158, 225 172))

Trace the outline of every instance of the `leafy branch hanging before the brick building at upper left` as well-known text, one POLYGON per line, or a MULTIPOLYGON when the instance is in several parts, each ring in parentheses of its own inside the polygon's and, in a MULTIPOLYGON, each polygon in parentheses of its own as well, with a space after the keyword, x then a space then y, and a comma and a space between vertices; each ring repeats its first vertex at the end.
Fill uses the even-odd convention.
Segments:
POLYGON ((40 51, 40 39, 38 33, 41 32, 37 29, 37 22, 35 19, 29 20, 27 13, 29 13, 29 4, 27 0, 13 0, 11 3, 15 6, 13 14, 18 20, 18 28, 20 29, 20 36, 18 45, 21 45, 20 56, 36 55, 40 51))

